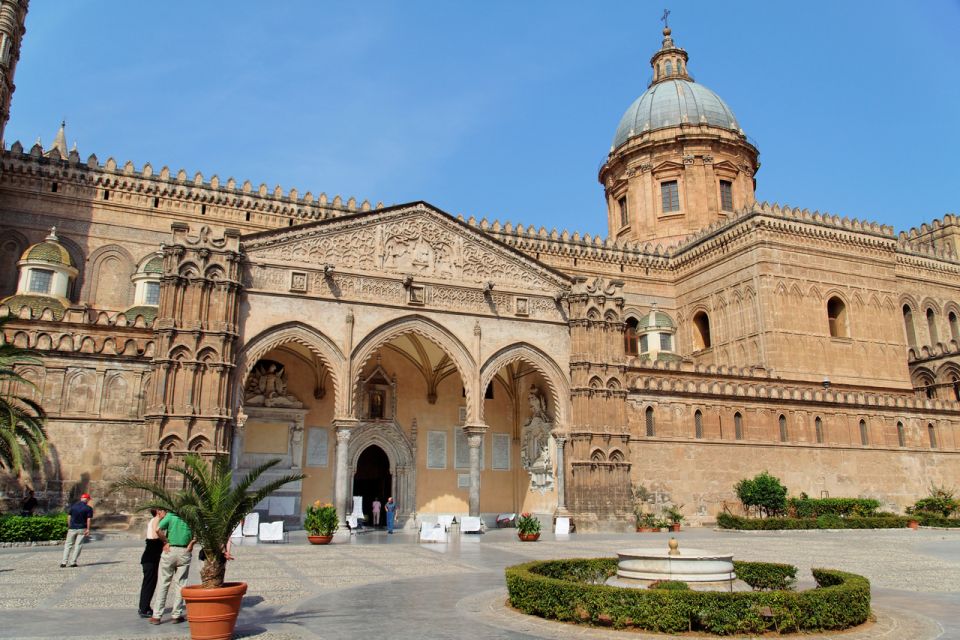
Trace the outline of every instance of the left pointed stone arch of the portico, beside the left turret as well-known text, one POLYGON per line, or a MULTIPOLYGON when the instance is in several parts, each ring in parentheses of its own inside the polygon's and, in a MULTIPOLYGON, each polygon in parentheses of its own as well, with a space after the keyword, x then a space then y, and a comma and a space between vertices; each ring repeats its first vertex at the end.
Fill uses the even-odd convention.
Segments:
POLYGON ((346 358, 340 348, 323 332, 302 322, 287 322, 265 329, 249 340, 237 355, 237 366, 233 375, 233 401, 236 408, 243 403, 243 387, 247 376, 257 361, 271 350, 288 342, 303 345, 316 355, 329 370, 334 389, 334 417, 345 416, 347 411, 345 368, 346 358))

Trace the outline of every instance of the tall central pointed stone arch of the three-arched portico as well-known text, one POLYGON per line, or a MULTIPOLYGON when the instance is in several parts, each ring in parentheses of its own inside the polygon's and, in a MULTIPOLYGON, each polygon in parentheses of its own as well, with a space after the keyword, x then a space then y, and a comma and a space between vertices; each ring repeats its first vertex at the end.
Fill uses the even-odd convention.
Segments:
MULTIPOLYGON (((486 389, 487 387, 484 384, 481 385, 479 389, 475 388, 476 363, 470 355, 470 352, 460 339, 446 327, 424 316, 410 315, 396 318, 380 325, 364 336, 364 338, 357 343, 357 346, 354 347, 349 363, 351 387, 349 390, 350 395, 347 398, 348 413, 356 413, 357 407, 359 407, 360 403, 357 399, 360 394, 360 372, 363 371, 364 366, 366 366, 370 358, 373 357, 377 349, 394 338, 399 338, 408 333, 413 333, 430 340, 439 347, 441 351, 447 354, 460 373, 460 378, 463 380, 463 390, 466 396, 468 414, 471 412, 482 412, 483 403, 477 403, 476 399, 477 397, 482 399, 483 394, 480 389, 486 389), (477 409, 475 404, 479 404, 480 408, 477 409)), ((490 380, 486 380, 486 383, 489 382, 490 380)), ((480 417, 480 415, 467 415, 467 422, 479 420, 480 417)))

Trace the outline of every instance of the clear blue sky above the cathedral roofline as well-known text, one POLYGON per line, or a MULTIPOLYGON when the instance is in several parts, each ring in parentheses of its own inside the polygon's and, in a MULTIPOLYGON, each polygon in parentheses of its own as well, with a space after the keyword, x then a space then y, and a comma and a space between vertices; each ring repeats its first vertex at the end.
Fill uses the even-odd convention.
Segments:
MULTIPOLYGON (((9 145, 606 233, 597 169, 663 3, 33 2, 9 145)), ((960 213, 960 2, 672 2, 758 199, 960 213)))

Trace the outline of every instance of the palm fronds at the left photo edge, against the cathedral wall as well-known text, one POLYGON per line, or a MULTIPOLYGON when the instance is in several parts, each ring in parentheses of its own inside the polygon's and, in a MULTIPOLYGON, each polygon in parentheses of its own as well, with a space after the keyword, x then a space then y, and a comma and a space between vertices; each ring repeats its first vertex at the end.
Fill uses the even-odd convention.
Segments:
POLYGON ((0 318, 0 467, 16 474, 24 466, 36 469, 43 462, 47 451, 47 415, 39 403, 21 395, 24 389, 38 390, 16 372, 16 365, 41 362, 33 351, 3 339, 3 325, 13 319, 0 318))

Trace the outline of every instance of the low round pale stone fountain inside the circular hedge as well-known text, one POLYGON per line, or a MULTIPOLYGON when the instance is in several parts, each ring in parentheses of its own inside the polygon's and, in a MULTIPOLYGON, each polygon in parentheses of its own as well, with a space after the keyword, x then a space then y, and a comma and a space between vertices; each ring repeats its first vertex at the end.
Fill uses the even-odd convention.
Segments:
POLYGON ((733 591, 737 579, 732 554, 680 551, 675 538, 669 549, 624 549, 617 556, 617 575, 607 579, 613 587, 646 589, 659 580, 678 580, 696 591, 733 591))

